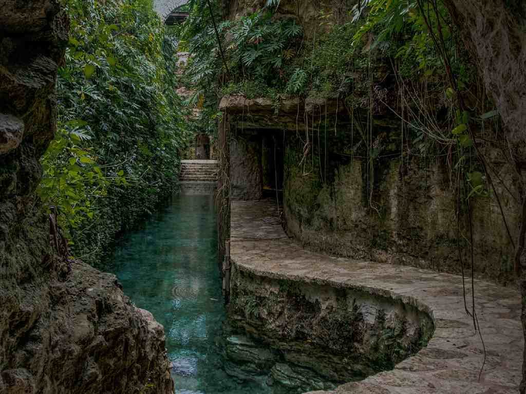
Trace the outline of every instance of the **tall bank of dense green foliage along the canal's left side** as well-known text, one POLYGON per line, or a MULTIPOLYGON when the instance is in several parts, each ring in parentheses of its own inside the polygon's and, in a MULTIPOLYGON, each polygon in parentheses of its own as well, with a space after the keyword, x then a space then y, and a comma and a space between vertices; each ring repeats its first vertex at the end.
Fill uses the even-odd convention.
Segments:
POLYGON ((75 257, 96 262, 115 235, 173 189, 188 131, 174 40, 150 0, 67 0, 58 133, 39 188, 75 257))

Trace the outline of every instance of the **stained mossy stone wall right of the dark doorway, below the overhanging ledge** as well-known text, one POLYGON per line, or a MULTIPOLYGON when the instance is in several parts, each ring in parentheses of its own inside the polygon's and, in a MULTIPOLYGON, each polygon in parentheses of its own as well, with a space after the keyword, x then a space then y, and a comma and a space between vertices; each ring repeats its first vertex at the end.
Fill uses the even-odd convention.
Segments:
MULTIPOLYGON (((350 133, 348 139, 350 145, 350 133)), ((367 159, 343 156, 345 152, 338 147, 345 144, 331 140, 327 143, 327 165, 324 166, 322 143, 321 155, 314 154, 313 159, 309 156, 305 168, 299 165, 303 144, 289 135, 284 186, 288 234, 306 247, 330 254, 459 274, 457 199, 451 165, 440 159, 433 159, 431 163, 421 158, 400 159, 396 152, 386 149, 382 153, 386 158, 375 160, 375 169, 371 172, 367 159)), ((513 169, 505 160, 499 160, 498 154, 493 157, 491 166, 499 169, 499 177, 513 193, 513 169)), ((518 227, 518 204, 503 186, 497 187, 508 225, 513 230, 518 227)), ((476 276, 511 285, 514 283, 513 249, 497 201, 491 193, 474 201, 476 276)), ((461 213, 458 230, 464 265, 468 269, 466 212, 461 213)))

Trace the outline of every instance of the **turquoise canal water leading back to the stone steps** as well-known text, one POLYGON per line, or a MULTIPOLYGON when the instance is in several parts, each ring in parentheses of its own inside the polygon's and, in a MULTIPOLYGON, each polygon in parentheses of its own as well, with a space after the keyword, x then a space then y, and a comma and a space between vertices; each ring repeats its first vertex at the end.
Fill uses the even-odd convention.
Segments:
POLYGON ((175 196, 143 229, 123 237, 104 269, 164 325, 176 394, 267 392, 224 371, 213 196, 175 196))

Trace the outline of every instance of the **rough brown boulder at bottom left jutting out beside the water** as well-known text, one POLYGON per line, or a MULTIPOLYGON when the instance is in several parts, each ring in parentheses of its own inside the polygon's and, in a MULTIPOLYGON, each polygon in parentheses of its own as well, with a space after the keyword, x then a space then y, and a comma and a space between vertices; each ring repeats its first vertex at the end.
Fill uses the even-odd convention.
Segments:
MULTIPOLYGON (((25 366, 16 381, 43 394, 173 392, 163 326, 131 305, 115 276, 74 263, 66 281, 47 286, 49 309, 17 321, 29 340, 3 349, 5 382, 25 366)), ((35 296, 25 296, 28 308, 35 296)))

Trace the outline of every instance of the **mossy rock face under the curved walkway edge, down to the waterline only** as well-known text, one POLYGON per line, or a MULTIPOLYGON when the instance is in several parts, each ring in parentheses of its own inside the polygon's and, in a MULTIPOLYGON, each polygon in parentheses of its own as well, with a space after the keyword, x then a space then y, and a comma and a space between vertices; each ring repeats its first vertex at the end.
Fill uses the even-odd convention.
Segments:
POLYGON ((398 302, 234 270, 228 310, 235 332, 270 346, 302 368, 315 368, 327 381, 342 382, 390 369, 427 344, 434 330, 429 316, 393 305, 398 302), (389 319, 384 308, 389 309, 389 319), (373 324, 363 310, 376 311, 373 324), (408 314, 399 315, 400 310, 408 314))

